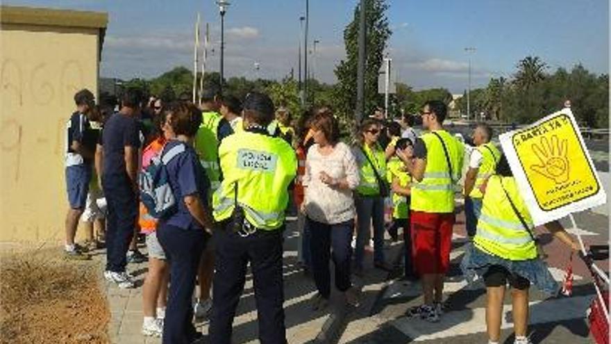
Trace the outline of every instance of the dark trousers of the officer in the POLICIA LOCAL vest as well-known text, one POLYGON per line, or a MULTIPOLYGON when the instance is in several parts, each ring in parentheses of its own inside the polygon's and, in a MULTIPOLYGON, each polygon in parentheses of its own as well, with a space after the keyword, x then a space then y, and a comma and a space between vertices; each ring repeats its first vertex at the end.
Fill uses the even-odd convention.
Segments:
POLYGON ((259 340, 286 343, 282 276, 283 229, 256 231, 246 238, 231 230, 231 222, 215 231, 215 296, 212 298, 210 343, 231 343, 233 317, 246 281, 246 265, 253 272, 259 340))

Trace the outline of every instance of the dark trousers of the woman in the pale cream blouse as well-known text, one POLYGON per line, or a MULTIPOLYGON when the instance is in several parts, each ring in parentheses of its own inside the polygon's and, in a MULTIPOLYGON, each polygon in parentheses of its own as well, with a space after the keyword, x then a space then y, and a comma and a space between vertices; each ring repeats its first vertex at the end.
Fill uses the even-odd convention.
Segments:
POLYGON ((319 293, 326 299, 331 294, 331 274, 329 259, 335 264, 335 286, 344 292, 352 284, 350 281, 350 262, 352 259, 352 233, 354 220, 337 224, 316 222, 308 218, 310 229, 310 252, 312 252, 312 270, 319 293))

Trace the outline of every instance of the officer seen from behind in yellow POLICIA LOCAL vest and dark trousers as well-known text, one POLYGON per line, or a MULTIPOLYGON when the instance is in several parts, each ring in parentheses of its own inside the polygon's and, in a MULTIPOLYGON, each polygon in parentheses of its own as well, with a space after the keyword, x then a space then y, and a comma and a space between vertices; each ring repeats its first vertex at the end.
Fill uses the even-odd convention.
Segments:
POLYGON ((231 343, 233 317, 250 262, 258 307, 261 343, 286 343, 283 311, 282 244, 288 186, 297 160, 282 138, 267 126, 274 104, 267 95, 244 99, 244 131, 225 138, 219 147, 220 188, 212 196, 215 231, 215 297, 210 341, 231 343))

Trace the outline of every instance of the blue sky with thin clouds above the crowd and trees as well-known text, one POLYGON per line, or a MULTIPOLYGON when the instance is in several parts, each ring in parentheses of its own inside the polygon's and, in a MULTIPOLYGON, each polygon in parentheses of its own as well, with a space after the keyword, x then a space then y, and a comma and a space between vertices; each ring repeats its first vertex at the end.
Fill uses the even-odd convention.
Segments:
MULTIPOLYGON (((10 5, 101 10, 109 14, 102 76, 150 78, 176 65, 192 68, 193 26, 199 11, 210 23, 218 69, 219 16, 213 0, 5 0, 10 5)), ((357 0, 310 0, 310 48, 320 41, 318 79, 334 82, 344 57, 343 30, 357 0)), ((417 89, 445 87, 461 93, 472 54, 473 84, 510 77, 517 61, 540 56, 550 67, 582 63, 596 74, 609 67, 606 0, 387 0, 394 31, 390 57, 397 79, 417 89)), ((226 15, 226 76, 281 79, 296 73, 299 16, 305 0, 232 0, 226 15), (260 70, 254 69, 259 63, 260 70)), ((310 55, 311 56, 311 55, 310 55)))

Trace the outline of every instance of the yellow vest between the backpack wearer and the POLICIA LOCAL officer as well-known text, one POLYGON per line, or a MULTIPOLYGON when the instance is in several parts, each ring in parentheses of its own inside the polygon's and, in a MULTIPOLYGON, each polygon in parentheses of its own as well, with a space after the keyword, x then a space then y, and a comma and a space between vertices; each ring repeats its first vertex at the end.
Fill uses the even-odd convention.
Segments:
POLYGON ((221 173, 219 170, 219 140, 217 131, 221 115, 211 112, 202 113, 203 120, 195 135, 195 151, 199 156, 199 162, 204 170, 206 177, 210 181, 212 191, 219 188, 221 173))

